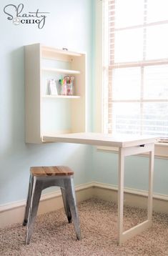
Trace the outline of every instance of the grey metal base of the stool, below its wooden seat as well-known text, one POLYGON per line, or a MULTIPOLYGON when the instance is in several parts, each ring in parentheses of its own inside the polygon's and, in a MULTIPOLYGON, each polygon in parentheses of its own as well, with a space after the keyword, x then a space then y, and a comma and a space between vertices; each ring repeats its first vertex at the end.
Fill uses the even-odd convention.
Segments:
POLYGON ((76 197, 74 191, 74 180, 73 176, 44 176, 36 177, 30 175, 29 179, 29 192, 26 202, 26 210, 24 214, 23 225, 27 225, 26 232, 26 245, 29 244, 31 240, 31 235, 34 230, 34 222, 36 219, 36 213, 39 207, 39 200, 41 197, 41 191, 46 189, 46 187, 58 186, 61 188, 61 195, 64 202, 64 210, 68 222, 74 223, 74 229, 76 231, 76 237, 81 240, 81 232, 79 225, 79 215, 76 207, 76 197))

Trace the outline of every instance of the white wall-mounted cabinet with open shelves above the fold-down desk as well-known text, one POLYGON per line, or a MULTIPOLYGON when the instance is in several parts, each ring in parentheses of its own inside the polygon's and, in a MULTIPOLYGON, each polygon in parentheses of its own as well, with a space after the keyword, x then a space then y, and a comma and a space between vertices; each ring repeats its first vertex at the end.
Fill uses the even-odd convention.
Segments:
MULTIPOLYGON (((26 142, 43 137, 86 132, 86 54, 41 44, 24 46, 26 142), (48 80, 74 77, 73 95, 50 95, 48 80)), ((59 90, 59 88, 58 88, 59 90)))

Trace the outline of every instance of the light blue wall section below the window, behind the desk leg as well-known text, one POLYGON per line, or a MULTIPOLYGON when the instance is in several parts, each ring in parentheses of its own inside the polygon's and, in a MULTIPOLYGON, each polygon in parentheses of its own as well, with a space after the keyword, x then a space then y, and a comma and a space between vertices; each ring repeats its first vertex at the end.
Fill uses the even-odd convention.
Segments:
MULTIPOLYGON (((97 182, 117 185, 118 154, 97 152, 93 147, 93 172, 97 182)), ((124 186, 133 189, 148 188, 148 157, 126 157, 124 186)), ((168 160, 154 159, 154 193, 168 195, 168 160)))

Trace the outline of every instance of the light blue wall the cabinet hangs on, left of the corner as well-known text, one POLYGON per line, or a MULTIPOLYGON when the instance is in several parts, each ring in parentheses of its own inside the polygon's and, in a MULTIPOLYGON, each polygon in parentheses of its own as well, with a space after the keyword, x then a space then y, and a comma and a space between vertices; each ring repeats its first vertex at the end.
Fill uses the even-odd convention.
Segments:
POLYGON ((0 204, 26 198, 29 167, 67 164, 75 184, 88 182, 92 167, 92 147, 75 144, 24 143, 24 49, 40 42, 56 48, 87 51, 88 129, 91 127, 92 95, 92 1, 23 0, 24 12, 48 11, 46 24, 15 26, 6 19, 4 6, 20 1, 1 0, 0 14, 0 204))

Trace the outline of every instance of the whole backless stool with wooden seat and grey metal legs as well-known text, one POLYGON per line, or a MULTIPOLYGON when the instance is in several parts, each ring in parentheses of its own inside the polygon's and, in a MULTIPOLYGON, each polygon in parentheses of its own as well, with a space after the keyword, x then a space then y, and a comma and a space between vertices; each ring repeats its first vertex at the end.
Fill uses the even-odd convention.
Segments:
POLYGON ((76 237, 78 240, 81 239, 73 174, 74 172, 72 172, 69 167, 64 166, 30 168, 29 192, 23 222, 24 226, 26 226, 28 223, 26 245, 29 244, 31 235, 33 233, 41 191, 46 189, 46 187, 51 186, 58 186, 61 188, 61 195, 64 202, 66 216, 69 222, 71 222, 72 219, 76 231, 76 237))

